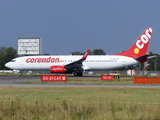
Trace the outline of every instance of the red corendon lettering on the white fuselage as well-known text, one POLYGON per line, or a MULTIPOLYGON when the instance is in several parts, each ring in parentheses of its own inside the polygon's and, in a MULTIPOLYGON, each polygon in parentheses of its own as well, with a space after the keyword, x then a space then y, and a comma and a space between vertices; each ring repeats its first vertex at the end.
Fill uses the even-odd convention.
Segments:
POLYGON ((59 58, 27 58, 27 63, 59 63, 59 58))

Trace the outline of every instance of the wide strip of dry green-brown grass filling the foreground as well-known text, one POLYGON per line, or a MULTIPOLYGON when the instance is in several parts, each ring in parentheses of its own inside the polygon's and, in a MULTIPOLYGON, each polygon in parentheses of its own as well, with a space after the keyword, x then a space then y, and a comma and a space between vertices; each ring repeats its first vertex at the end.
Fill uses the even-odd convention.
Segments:
POLYGON ((159 120, 160 89, 0 88, 0 120, 159 120))

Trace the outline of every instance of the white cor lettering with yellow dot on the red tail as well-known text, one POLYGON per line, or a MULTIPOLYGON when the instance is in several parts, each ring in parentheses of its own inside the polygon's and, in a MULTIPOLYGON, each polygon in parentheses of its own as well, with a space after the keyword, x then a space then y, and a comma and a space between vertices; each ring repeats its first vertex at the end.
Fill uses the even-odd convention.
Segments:
POLYGON ((151 38, 152 28, 147 29, 137 40, 136 47, 134 49, 134 53, 138 54, 141 49, 144 48, 145 44, 147 44, 151 38))

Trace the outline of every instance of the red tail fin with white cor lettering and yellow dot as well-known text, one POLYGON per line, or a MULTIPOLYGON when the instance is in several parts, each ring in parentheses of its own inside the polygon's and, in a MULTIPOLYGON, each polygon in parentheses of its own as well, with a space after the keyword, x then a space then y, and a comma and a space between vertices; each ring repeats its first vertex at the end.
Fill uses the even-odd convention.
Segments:
POLYGON ((145 56, 148 52, 148 45, 150 43, 151 35, 152 28, 146 28, 127 51, 118 53, 116 55, 122 55, 132 58, 139 58, 145 56))

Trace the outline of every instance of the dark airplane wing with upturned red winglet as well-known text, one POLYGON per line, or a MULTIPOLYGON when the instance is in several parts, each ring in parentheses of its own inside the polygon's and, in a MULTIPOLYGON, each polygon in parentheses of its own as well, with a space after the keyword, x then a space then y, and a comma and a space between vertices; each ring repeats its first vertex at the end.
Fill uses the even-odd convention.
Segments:
POLYGON ((65 65, 64 67, 67 69, 81 69, 82 68, 82 63, 83 61, 86 60, 88 54, 89 54, 90 50, 88 49, 85 54, 83 55, 83 57, 75 62, 69 63, 67 65, 65 65))

